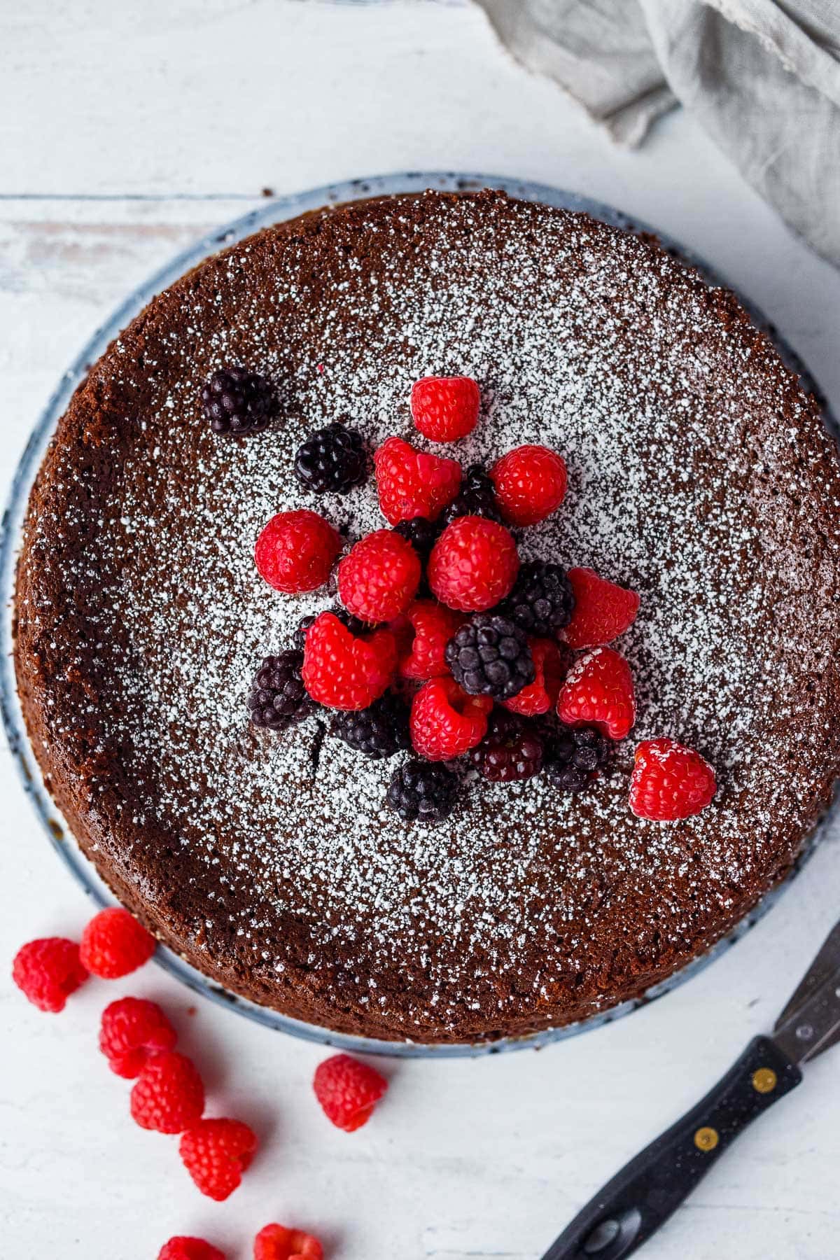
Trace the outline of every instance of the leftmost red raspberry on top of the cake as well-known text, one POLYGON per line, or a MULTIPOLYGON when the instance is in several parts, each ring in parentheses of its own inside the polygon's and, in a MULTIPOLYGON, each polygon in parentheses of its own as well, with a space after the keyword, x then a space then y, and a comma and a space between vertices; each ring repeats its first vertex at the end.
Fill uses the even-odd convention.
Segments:
POLYGON ((324 586, 340 551, 341 539, 330 522, 317 512, 298 508, 278 512, 263 525, 254 561, 259 576, 276 591, 298 595, 324 586))

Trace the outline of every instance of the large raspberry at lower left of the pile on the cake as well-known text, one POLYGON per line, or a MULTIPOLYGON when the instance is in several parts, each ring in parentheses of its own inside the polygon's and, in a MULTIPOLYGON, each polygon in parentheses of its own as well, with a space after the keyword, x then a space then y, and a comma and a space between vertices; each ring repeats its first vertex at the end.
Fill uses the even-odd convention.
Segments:
POLYGON ((306 631, 304 684, 319 704, 368 708, 395 669, 397 640, 390 630, 358 638, 334 612, 321 612, 306 631))

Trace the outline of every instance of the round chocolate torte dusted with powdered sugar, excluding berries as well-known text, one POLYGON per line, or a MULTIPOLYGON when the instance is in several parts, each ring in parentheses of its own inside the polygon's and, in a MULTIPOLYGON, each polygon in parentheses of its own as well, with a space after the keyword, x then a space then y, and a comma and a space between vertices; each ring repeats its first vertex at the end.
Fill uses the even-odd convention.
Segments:
POLYGON ((829 803, 839 648, 840 470, 814 397, 655 239, 497 193, 307 214, 156 297, 62 418, 18 571, 26 724, 99 874, 227 988, 383 1038, 564 1024, 707 950, 829 803), (207 423, 225 364, 272 382, 263 432, 207 423), (486 466, 542 442, 567 461, 523 558, 591 566, 641 609, 615 771, 579 794, 484 784, 432 828, 385 806, 392 762, 317 719, 258 731, 247 701, 334 600, 261 580, 262 525, 300 507, 348 539, 384 524, 370 485, 307 498, 295 452, 336 420, 372 449, 417 442, 412 382, 443 373, 482 398, 445 454, 486 466), (715 767, 701 814, 630 811, 633 743, 654 736, 715 767))

